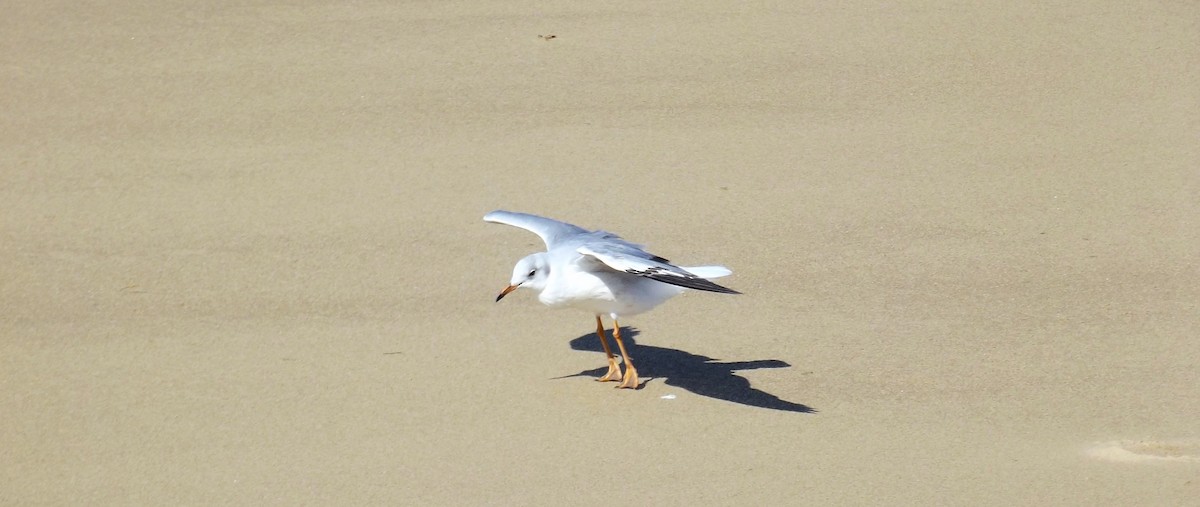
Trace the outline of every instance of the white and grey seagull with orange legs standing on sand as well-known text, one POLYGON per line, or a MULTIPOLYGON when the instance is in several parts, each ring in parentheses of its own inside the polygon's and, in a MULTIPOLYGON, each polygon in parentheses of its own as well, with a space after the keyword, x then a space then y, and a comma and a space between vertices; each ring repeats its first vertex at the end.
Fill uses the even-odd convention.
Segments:
POLYGON ((620 381, 618 388, 640 387, 637 369, 620 339, 619 318, 648 311, 685 288, 740 294, 709 280, 733 273, 724 266, 682 268, 611 232, 505 210, 488 213, 484 221, 521 227, 546 243, 546 251, 517 261, 509 286, 496 302, 517 288, 528 288, 536 291, 538 300, 546 306, 576 308, 595 315, 596 336, 608 356, 608 372, 596 380, 620 381), (612 338, 620 350, 624 374, 608 348, 602 315, 612 318, 612 338))

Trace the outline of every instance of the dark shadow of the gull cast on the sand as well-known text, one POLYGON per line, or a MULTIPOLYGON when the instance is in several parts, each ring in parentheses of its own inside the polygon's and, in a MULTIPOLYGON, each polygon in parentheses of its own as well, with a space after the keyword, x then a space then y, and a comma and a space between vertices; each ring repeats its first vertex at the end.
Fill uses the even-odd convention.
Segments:
MULTIPOLYGON (((685 351, 637 345, 637 334, 638 330, 636 328, 624 326, 620 328, 620 336, 625 340, 625 346, 629 348, 629 354, 634 358, 634 364, 637 365, 638 375, 650 377, 646 382, 662 378, 662 382, 667 386, 678 387, 702 396, 785 412, 816 412, 816 408, 808 405, 781 400, 774 394, 755 389, 750 387, 749 380, 736 375, 740 370, 791 368, 791 364, 779 359, 718 363, 716 359, 685 351)), ((611 330, 608 332, 608 338, 610 344, 612 344, 611 330)), ((595 333, 588 333, 571 340, 571 348, 576 351, 604 352, 604 348, 600 347, 600 339, 596 338, 595 333)), ((614 353, 616 348, 613 346, 614 353)), ((600 377, 607 370, 608 368, 604 366, 559 378, 600 377)))

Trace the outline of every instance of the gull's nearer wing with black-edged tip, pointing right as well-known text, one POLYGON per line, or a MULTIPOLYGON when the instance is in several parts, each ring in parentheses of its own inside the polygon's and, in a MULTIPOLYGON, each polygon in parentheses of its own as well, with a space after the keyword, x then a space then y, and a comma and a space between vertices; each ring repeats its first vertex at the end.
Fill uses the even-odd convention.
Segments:
POLYGON ((695 288, 697 291, 740 294, 738 291, 713 284, 624 240, 607 239, 602 241, 588 241, 576 249, 576 251, 618 272, 644 276, 664 284, 695 288))

